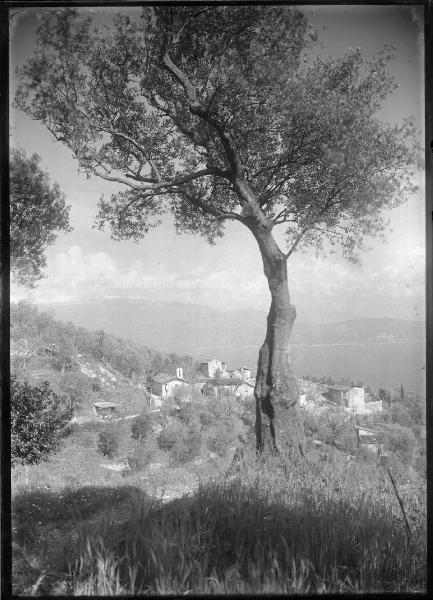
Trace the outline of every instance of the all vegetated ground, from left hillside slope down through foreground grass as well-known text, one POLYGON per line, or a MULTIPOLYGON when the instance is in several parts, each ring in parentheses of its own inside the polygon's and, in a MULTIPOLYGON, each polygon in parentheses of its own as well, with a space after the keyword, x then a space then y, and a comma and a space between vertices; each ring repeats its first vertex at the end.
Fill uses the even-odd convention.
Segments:
POLYGON ((47 380, 74 411, 60 447, 13 468, 16 594, 425 590, 419 397, 374 392, 386 461, 358 446, 354 423, 302 409, 291 444, 257 457, 252 399, 179 393, 148 408, 141 382, 177 366, 193 374, 192 359, 23 304, 12 324, 15 376, 47 380), (93 402, 110 399, 118 418, 96 418, 93 402))

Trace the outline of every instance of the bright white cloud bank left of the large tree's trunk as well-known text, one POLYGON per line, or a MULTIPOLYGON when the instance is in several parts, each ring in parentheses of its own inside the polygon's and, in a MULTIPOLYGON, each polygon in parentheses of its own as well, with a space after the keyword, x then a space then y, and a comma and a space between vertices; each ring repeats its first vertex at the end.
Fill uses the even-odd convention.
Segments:
POLYGON ((122 264, 105 252, 84 254, 71 246, 50 261, 46 277, 34 290, 12 284, 13 301, 27 299, 35 303, 83 301, 108 296, 208 304, 220 308, 251 306, 266 295, 260 277, 249 278, 230 270, 166 272, 146 269, 142 261, 122 264))

